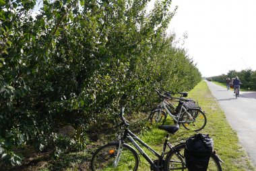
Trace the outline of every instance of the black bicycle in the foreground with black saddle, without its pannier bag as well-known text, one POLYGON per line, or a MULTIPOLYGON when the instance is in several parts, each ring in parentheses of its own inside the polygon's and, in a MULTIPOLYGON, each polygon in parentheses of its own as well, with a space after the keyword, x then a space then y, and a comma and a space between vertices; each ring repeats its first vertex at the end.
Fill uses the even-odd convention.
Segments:
MULTIPOLYGON (((123 133, 120 133, 117 141, 110 142, 104 146, 101 146, 94 152, 91 160, 91 169, 96 170, 133 170, 136 171, 139 167, 139 154, 150 164, 150 168, 153 171, 164 171, 164 170, 187 170, 186 162, 184 157, 185 142, 180 142, 177 146, 170 144, 169 136, 179 130, 179 125, 160 125, 158 128, 167 132, 165 141, 162 147, 162 153, 158 154, 148 144, 143 142, 139 137, 129 130, 129 123, 126 121, 124 115, 124 108, 122 107, 119 117, 121 119, 121 129, 123 133), (131 146, 126 144, 125 141, 129 140, 131 146), (150 151, 157 160, 152 160, 142 150, 139 144, 150 151), (133 148, 137 149, 137 151, 133 148), (170 151, 166 152, 166 148, 170 151), (166 157, 164 158, 164 156, 166 157)), ((218 157, 216 152, 212 152, 210 162, 207 170, 222 171, 220 165, 222 160, 218 157)))

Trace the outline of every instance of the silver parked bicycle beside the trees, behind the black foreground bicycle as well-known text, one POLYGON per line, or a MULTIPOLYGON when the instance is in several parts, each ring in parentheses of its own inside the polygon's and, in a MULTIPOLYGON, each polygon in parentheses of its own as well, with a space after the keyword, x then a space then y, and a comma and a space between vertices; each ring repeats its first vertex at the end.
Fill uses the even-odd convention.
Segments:
POLYGON ((193 103, 193 100, 184 98, 187 93, 180 93, 181 97, 172 97, 170 92, 160 93, 158 90, 156 90, 156 93, 158 93, 162 102, 148 116, 151 124, 162 122, 162 125, 164 125, 168 114, 172 117, 174 123, 182 124, 185 129, 200 131, 205 127, 207 119, 201 108, 186 106, 187 103, 193 103), (179 105, 174 107, 169 101, 178 102, 179 105))

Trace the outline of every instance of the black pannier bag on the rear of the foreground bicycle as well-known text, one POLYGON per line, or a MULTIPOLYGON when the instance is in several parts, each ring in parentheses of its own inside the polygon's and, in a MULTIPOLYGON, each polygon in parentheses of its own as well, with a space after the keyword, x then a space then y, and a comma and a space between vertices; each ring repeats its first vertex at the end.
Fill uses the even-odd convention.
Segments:
POLYGON ((186 140, 185 160, 189 171, 206 171, 214 150, 214 140, 197 133, 186 140))

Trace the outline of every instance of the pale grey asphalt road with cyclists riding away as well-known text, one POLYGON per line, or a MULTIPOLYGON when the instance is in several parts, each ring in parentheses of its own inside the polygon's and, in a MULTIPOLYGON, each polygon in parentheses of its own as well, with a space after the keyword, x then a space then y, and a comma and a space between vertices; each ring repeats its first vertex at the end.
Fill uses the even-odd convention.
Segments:
POLYGON ((233 89, 227 91, 213 82, 207 85, 256 166, 256 92, 241 91, 236 99, 233 89))

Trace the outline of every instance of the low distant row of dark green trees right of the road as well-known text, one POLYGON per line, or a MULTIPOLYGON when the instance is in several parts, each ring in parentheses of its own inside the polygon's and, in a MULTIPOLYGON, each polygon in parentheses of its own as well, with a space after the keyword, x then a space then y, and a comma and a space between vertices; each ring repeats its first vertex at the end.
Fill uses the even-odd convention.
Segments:
POLYGON ((241 70, 240 72, 236 70, 230 70, 228 71, 227 74, 208 77, 207 80, 213 80, 213 81, 225 83, 226 78, 232 79, 232 78, 235 78, 236 76, 238 76, 238 78, 243 83, 241 85, 243 89, 256 90, 256 71, 251 69, 241 70))

